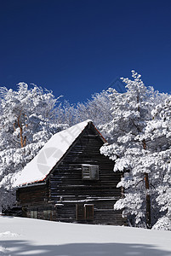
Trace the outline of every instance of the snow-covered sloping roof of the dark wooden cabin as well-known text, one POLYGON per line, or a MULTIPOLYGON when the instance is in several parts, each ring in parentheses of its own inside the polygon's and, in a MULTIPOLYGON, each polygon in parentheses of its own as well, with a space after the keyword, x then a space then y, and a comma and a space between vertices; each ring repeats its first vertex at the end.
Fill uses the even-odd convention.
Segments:
POLYGON ((34 159, 26 165, 20 177, 14 183, 14 187, 43 181, 89 122, 92 121, 88 119, 54 134, 54 136, 48 140, 48 143, 45 143, 43 148, 40 149, 34 159))

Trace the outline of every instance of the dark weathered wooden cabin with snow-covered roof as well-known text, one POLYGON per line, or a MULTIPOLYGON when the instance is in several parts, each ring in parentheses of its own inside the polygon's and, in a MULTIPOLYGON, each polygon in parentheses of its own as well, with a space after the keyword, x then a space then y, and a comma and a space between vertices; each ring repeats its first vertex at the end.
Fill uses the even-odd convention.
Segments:
POLYGON ((16 181, 22 216, 83 224, 123 225, 114 211, 121 173, 100 154, 106 143, 91 120, 55 134, 16 181))

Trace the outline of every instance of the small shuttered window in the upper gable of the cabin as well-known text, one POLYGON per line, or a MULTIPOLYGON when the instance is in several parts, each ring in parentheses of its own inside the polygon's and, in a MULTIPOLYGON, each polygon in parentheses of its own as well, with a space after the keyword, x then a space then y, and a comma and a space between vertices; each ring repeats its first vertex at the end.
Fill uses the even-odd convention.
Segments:
POLYGON ((82 165, 83 179, 98 180, 99 179, 99 166, 95 165, 82 165))

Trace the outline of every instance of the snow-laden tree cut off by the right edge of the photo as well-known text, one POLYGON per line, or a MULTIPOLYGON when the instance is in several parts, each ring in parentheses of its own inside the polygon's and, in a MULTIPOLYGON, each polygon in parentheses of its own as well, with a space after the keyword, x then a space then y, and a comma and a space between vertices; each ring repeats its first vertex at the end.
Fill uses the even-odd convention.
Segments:
POLYGON ((153 181, 162 218, 154 229, 171 230, 171 96, 152 111, 144 139, 153 158, 153 181))

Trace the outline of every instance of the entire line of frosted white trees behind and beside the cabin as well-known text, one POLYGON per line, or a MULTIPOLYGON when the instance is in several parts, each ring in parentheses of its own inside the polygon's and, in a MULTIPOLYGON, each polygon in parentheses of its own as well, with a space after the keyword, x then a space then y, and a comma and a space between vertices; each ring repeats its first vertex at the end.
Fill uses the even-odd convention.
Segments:
POLYGON ((104 90, 71 105, 37 85, 0 90, 0 192, 3 207, 15 200, 20 171, 56 132, 92 119, 109 144, 101 154, 122 172, 124 198, 114 209, 133 226, 171 230, 171 96, 146 87, 140 74, 123 79, 126 91, 104 90))

